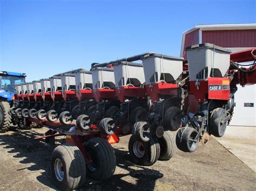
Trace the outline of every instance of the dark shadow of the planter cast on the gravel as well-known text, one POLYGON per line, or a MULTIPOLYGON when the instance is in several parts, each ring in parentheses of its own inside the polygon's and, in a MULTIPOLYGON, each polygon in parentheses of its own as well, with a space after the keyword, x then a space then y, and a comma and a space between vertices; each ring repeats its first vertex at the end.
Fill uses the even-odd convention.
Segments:
MULTIPOLYGON (((23 169, 40 171, 41 175, 35 176, 35 179, 45 186, 56 189, 51 180, 50 169, 51 153, 55 146, 45 144, 42 141, 43 139, 34 139, 38 136, 44 136, 44 133, 37 132, 37 130, 17 130, 12 127, 8 133, 0 135, 0 145, 8 149, 8 153, 14 154, 14 158, 23 158, 19 161, 21 164, 31 165, 26 168, 19 168, 17 171, 22 171, 23 169)), ((57 144, 63 141, 64 139, 58 139, 57 144)), ((83 190, 153 190, 156 180, 163 177, 163 174, 159 171, 134 165, 129 161, 128 152, 123 151, 122 148, 115 148, 114 151, 119 173, 104 181, 86 178, 83 190)), ((9 188, 11 188, 11 185, 9 188)))

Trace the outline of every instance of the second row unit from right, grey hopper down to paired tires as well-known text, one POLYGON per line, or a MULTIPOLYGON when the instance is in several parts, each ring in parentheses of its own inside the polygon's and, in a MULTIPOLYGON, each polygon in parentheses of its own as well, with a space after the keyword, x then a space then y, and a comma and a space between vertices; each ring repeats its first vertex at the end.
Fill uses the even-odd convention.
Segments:
POLYGON ((145 90, 152 105, 145 120, 134 124, 129 152, 133 161, 145 165, 158 159, 169 160, 175 153, 174 138, 169 130, 179 128, 183 115, 180 110, 183 58, 149 53, 141 59, 145 90))

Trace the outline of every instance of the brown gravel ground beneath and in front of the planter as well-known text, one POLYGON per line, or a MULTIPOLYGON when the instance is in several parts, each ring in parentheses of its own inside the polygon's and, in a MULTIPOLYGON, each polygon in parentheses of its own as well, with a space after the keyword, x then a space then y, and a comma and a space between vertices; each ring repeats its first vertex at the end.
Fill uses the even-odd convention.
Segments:
MULTIPOLYGON (((51 181, 50 158, 54 146, 33 137, 43 136, 46 128, 16 131, 0 135, 0 189, 56 189, 51 181)), ((111 179, 87 179, 86 190, 170 190, 225 189, 256 190, 255 173, 226 148, 211 138, 194 153, 177 150, 169 161, 153 166, 130 162, 127 144, 130 136, 113 145, 117 157, 116 172, 111 179)), ((59 140, 62 141, 62 140, 59 140)))

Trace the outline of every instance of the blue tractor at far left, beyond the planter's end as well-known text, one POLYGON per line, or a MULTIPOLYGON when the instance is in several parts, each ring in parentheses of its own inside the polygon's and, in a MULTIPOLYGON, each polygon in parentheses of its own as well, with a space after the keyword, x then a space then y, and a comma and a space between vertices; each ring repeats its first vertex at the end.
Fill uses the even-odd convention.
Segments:
POLYGON ((12 116, 11 108, 15 107, 15 85, 25 83, 26 74, 0 71, 0 132, 8 130, 12 116))

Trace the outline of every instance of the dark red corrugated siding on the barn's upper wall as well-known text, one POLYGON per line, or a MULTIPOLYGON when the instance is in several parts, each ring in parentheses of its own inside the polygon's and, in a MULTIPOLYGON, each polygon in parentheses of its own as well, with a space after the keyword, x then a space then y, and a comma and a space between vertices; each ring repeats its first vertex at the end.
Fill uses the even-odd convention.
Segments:
POLYGON ((256 47, 256 30, 202 31, 202 43, 221 47, 256 47))

